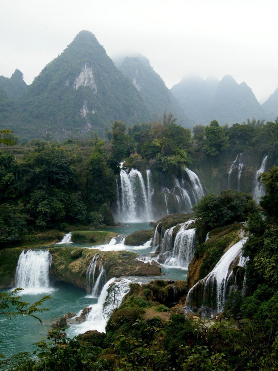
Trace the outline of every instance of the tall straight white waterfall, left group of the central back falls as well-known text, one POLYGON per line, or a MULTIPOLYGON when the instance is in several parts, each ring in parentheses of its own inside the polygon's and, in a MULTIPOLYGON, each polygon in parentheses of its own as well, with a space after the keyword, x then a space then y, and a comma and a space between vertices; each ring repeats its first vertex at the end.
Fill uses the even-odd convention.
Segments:
POLYGON ((147 170, 147 187, 140 171, 120 170, 120 187, 117 185, 117 213, 122 222, 149 221, 152 216, 152 177, 147 170))

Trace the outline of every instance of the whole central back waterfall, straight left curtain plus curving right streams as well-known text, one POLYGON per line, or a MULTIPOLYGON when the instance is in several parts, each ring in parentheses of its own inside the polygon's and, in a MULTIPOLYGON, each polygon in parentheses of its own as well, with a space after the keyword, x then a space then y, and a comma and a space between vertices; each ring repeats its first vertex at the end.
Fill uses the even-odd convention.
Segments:
MULTIPOLYGON (((116 215, 121 222, 140 222, 153 220, 156 210, 153 207, 154 189, 152 172, 146 170, 146 180, 140 171, 128 168, 123 169, 120 164, 120 180, 116 181, 116 215)), ((192 170, 185 168, 187 181, 177 178, 172 181, 172 188, 168 187, 165 178, 161 175, 161 190, 165 195, 166 213, 189 213, 192 205, 204 195, 201 181, 192 170)), ((165 212, 165 211, 163 211, 165 212)), ((161 215, 160 215, 161 216, 161 215)))

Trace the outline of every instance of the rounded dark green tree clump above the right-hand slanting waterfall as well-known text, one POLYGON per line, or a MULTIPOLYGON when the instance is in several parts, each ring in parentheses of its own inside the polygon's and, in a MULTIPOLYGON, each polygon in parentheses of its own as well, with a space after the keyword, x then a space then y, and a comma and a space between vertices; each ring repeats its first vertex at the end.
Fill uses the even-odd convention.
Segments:
POLYGON ((222 191, 220 195, 209 193, 193 206, 196 217, 202 218, 212 228, 246 220, 255 209, 251 195, 232 190, 222 191))

